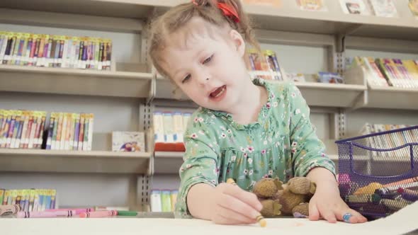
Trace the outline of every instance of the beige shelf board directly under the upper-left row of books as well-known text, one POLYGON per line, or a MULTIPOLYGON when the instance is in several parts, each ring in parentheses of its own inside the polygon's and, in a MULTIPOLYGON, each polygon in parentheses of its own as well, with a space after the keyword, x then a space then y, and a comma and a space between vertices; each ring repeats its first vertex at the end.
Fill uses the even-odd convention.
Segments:
POLYGON ((0 91, 147 98, 152 74, 0 65, 0 91))

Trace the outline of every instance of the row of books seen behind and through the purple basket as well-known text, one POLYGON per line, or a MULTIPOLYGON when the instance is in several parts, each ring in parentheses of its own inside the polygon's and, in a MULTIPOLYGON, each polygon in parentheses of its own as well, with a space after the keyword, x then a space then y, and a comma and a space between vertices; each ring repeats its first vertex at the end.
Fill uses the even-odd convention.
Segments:
MULTIPOLYGON (((402 132, 392 132, 390 134, 379 134, 381 132, 387 132, 390 130, 399 130, 405 127, 411 127, 410 125, 383 125, 383 124, 371 124, 366 123, 361 128, 360 134, 376 134, 373 137, 366 137, 365 141, 368 147, 374 149, 393 149, 403 146, 405 144, 417 143, 418 133, 417 130, 406 130, 402 132)), ((371 151, 373 156, 387 156, 387 157, 407 157, 409 159, 410 154, 409 147, 402 148, 395 151, 371 151)))

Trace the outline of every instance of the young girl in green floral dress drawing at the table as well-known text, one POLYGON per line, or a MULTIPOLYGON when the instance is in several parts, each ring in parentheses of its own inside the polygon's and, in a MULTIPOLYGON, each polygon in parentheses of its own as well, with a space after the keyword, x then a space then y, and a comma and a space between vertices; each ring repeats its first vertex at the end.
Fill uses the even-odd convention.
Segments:
POLYGON ((258 47, 239 0, 193 0, 152 24, 154 66, 200 105, 185 133, 176 215, 251 224, 261 210, 248 192, 257 180, 307 176, 317 184, 310 219, 366 222, 341 200, 334 164, 298 88, 250 79, 246 41, 258 47))

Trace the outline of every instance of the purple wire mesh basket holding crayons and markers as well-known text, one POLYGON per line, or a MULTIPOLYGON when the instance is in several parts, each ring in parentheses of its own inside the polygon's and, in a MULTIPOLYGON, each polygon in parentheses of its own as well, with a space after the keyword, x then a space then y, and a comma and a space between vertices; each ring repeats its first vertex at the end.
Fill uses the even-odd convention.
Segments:
POLYGON ((335 143, 339 190, 349 207, 378 219, 418 200, 418 126, 335 143))

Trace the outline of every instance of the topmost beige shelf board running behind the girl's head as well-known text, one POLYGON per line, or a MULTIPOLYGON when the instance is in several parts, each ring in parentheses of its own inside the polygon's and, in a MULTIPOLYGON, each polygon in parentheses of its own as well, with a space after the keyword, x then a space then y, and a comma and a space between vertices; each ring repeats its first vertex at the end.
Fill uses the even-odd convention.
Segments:
MULTIPOLYGON (((14 0, 0 3, 1 8, 89 16, 135 18, 145 20, 154 8, 161 11, 189 0, 14 0)), ((418 40, 418 23, 407 4, 396 1, 400 18, 345 14, 338 1, 327 1, 328 11, 301 11, 295 1, 282 1, 280 8, 244 4, 255 28, 328 35, 349 34, 363 37, 418 40)))

